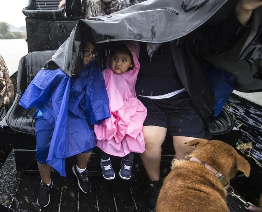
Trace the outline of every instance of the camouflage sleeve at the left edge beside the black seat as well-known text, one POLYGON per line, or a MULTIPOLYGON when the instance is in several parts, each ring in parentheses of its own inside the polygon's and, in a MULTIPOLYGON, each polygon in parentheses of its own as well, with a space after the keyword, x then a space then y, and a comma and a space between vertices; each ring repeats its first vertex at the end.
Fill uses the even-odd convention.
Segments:
POLYGON ((0 54, 0 107, 9 105, 15 98, 13 83, 9 77, 6 63, 0 54))

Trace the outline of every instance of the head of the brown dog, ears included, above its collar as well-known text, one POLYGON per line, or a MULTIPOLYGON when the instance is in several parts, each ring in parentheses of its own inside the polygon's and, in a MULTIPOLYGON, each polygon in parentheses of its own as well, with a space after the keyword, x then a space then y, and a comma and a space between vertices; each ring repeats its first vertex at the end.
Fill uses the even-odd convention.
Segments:
POLYGON ((220 171, 227 180, 235 177, 237 170, 242 171, 246 177, 250 174, 249 163, 240 156, 236 149, 219 140, 196 139, 185 144, 196 146, 196 149, 185 156, 197 157, 220 171))

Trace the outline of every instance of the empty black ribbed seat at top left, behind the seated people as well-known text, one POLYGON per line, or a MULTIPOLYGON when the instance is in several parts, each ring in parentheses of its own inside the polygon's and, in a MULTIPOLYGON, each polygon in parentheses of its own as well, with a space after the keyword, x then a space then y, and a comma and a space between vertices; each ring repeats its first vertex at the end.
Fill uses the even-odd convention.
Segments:
POLYGON ((59 0, 29 0, 28 6, 22 9, 22 13, 29 18, 56 19, 62 17, 65 8, 58 8, 59 0))

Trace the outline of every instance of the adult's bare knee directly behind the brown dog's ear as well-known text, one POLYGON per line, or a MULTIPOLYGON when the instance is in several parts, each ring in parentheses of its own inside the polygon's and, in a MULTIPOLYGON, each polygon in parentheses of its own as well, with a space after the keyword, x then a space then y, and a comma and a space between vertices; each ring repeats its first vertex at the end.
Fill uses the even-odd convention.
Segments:
POLYGON ((197 138, 192 138, 192 137, 185 137, 185 136, 173 136, 173 145, 175 149, 175 158, 180 160, 184 159, 186 154, 189 154, 192 152, 195 147, 190 147, 185 142, 195 140, 197 138))

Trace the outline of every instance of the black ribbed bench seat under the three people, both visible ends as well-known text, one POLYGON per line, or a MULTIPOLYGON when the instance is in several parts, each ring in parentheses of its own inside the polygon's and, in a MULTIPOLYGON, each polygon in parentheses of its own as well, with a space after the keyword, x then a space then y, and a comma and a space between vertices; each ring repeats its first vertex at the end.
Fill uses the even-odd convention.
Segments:
MULTIPOLYGON (((6 115, 6 122, 14 131, 34 135, 33 114, 36 112, 36 109, 30 108, 25 110, 18 103, 29 83, 55 52, 56 50, 35 51, 20 59, 17 76, 17 95, 6 115)), ((218 117, 215 117, 210 131, 213 135, 221 135, 228 133, 231 129, 233 129, 233 120, 224 109, 218 117)))

